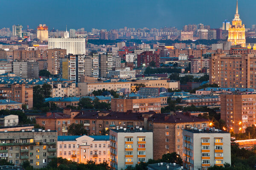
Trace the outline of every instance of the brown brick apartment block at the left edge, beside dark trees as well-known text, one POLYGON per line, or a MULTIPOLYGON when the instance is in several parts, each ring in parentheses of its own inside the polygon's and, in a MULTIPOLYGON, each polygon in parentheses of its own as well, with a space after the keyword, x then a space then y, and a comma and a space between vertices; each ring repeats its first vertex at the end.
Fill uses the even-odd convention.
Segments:
POLYGON ((27 88, 25 84, 13 84, 6 87, 0 87, 0 93, 2 93, 0 94, 0 96, 3 99, 9 99, 15 102, 14 103, 15 105, 12 107, 16 106, 18 109, 18 108, 22 108, 21 107, 22 104, 25 104, 28 106, 28 108, 33 108, 33 88, 32 87, 27 88))

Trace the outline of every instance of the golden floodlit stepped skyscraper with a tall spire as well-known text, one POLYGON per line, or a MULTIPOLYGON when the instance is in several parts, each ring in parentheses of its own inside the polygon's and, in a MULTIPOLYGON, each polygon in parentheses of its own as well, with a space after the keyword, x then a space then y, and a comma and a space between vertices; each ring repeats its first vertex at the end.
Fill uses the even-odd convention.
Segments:
POLYGON ((238 1, 236 1, 236 14, 232 21, 232 26, 228 29, 227 41, 232 42, 232 45, 241 45, 245 47, 245 27, 242 25, 242 20, 238 14, 238 1))

